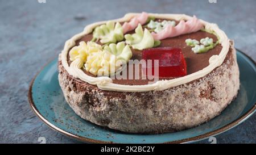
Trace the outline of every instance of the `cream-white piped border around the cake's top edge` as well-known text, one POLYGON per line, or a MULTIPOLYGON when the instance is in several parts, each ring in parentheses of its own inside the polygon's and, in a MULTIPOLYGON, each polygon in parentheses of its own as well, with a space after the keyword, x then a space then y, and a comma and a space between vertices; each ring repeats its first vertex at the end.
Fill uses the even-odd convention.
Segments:
MULTIPOLYGON (((123 16, 120 19, 114 19, 114 22, 126 22, 129 21, 133 16, 138 15, 138 13, 129 13, 123 16)), ((150 16, 155 16, 155 18, 159 19, 172 19, 172 20, 189 20, 192 16, 184 15, 184 14, 150 14, 150 16)), ((225 32, 218 28, 217 24, 208 23, 204 20, 200 21, 204 24, 205 29, 214 31, 220 37, 220 44, 222 45, 222 49, 219 55, 214 55, 209 59, 209 65, 202 70, 199 70, 195 73, 189 74, 188 76, 170 79, 170 80, 162 80, 150 85, 119 85, 112 82, 112 79, 109 77, 91 77, 82 72, 81 69, 76 67, 76 63, 72 63, 73 65, 69 66, 67 61, 67 55, 70 48, 72 48, 76 44, 76 40, 79 40, 82 36, 93 31, 93 28, 106 23, 107 21, 97 22, 93 24, 89 24, 84 28, 84 31, 78 33, 77 35, 71 37, 71 39, 67 40, 64 45, 64 49, 61 52, 61 62, 64 68, 67 70, 69 74, 71 74, 75 78, 79 78, 82 81, 88 82, 92 85, 97 85, 99 89, 102 90, 110 90, 110 91, 127 91, 127 92, 144 92, 144 91, 161 91, 168 89, 170 87, 175 87, 179 85, 183 85, 184 83, 191 82, 195 79, 204 77, 205 75, 212 72, 213 69, 220 66, 229 51, 229 39, 226 36, 225 32)))

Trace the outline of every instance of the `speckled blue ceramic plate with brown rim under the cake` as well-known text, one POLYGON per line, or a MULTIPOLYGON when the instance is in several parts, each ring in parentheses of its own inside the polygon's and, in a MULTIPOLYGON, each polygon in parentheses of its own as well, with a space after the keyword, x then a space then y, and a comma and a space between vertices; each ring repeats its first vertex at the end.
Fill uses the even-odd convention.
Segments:
POLYGON ((59 86, 57 58, 31 82, 28 99, 35 114, 44 123, 69 137, 89 143, 189 143, 218 135, 242 123, 256 111, 256 65, 237 50, 240 91, 222 113, 208 123, 180 132, 159 135, 123 133, 90 123, 73 112, 59 86), (249 76, 248 76, 249 75, 249 76))

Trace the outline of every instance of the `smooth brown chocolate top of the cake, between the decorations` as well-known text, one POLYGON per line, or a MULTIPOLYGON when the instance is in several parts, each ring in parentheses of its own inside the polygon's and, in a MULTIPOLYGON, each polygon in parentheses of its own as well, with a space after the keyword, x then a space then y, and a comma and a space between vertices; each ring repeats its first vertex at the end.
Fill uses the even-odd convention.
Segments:
MULTIPOLYGON (((177 22, 176 22, 177 23, 177 22)), ((121 23, 122 24, 122 23, 121 23)), ((134 31, 131 31, 129 33, 134 33, 134 31)), ((180 35, 176 37, 170 37, 167 39, 161 40, 161 44, 159 47, 174 47, 174 48, 181 48, 182 53, 185 57, 185 61, 187 63, 187 74, 195 73, 209 65, 209 58, 213 55, 219 55, 222 49, 222 46, 220 44, 216 45, 213 49, 210 49, 207 53, 201 53, 201 54, 195 54, 191 47, 187 46, 185 43, 186 39, 196 39, 199 40, 205 37, 211 37, 214 42, 217 41, 217 37, 211 33, 204 32, 204 31, 197 31, 194 33, 189 33, 185 35, 180 35)), ((76 41, 76 45, 79 45, 80 41, 90 41, 92 40, 93 36, 92 33, 85 35, 81 37, 81 39, 76 41)), ((100 44, 98 42, 98 44, 100 44)), ((141 60, 142 59, 142 51, 132 49, 133 57, 131 59, 135 60, 141 60)), ((69 60, 68 55, 68 64, 71 64, 71 61, 69 60)), ((141 69, 141 68, 140 68, 141 69)), ((85 74, 88 74, 89 76, 93 76, 93 74, 86 72, 86 70, 83 70, 85 74)), ((162 79, 174 79, 174 77, 159 77, 159 80, 162 79)), ((142 79, 142 76, 139 76, 139 79, 113 79, 113 83, 121 84, 121 85, 147 85, 148 82, 150 82, 149 79, 142 79)))

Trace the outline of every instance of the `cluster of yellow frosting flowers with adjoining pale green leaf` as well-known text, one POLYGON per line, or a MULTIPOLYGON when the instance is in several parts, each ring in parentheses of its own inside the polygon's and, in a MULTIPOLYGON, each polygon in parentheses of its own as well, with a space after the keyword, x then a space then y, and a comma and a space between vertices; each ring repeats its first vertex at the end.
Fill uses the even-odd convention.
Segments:
POLYGON ((73 47, 69 52, 71 61, 79 61, 79 68, 85 64, 85 70, 94 76, 109 76, 115 73, 132 55, 129 45, 125 45, 124 41, 106 45, 104 49, 92 41, 88 41, 87 44, 81 41, 79 46, 73 47))

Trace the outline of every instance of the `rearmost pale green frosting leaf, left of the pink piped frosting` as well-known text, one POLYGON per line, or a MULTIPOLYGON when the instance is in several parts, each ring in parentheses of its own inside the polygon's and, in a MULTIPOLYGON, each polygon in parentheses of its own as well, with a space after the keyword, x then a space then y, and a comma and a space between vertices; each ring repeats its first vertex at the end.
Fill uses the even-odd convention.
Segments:
POLYGON ((109 21, 94 29, 93 40, 95 39, 100 39, 102 44, 117 43, 123 40, 123 28, 120 23, 109 21))

